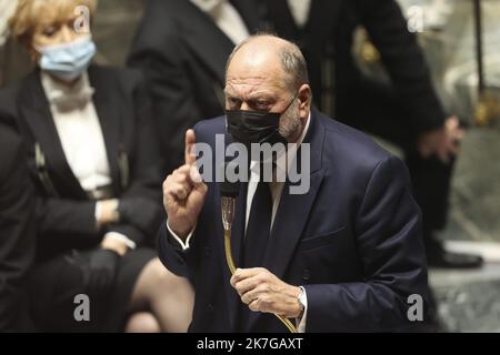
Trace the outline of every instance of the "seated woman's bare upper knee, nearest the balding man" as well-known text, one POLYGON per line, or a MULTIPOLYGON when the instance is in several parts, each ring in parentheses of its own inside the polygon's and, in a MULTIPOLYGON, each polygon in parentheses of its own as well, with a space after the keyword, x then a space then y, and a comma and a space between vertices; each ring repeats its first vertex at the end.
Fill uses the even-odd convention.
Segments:
POLYGON ((132 293, 132 312, 148 310, 162 332, 183 333, 191 323, 194 291, 189 281, 168 271, 159 258, 142 270, 132 293))

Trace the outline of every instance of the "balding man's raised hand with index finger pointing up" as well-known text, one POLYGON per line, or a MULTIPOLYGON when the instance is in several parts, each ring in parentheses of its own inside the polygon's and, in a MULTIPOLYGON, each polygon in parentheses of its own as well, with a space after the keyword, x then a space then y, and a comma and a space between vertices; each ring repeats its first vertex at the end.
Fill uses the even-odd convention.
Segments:
POLYGON ((186 164, 163 182, 163 205, 169 226, 182 240, 194 229, 208 190, 194 165, 194 131, 189 130, 186 132, 186 164))

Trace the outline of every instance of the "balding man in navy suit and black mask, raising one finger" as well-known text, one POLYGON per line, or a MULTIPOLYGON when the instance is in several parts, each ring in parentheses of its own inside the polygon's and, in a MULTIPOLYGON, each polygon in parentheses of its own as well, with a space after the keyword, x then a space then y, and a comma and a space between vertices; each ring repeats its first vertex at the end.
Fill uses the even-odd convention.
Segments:
MULTIPOLYGON (((299 332, 404 329, 412 325, 408 297, 420 297, 424 306, 420 212, 403 163, 311 110, 311 100, 300 50, 254 36, 230 57, 227 121, 202 121, 187 132, 186 164, 163 183, 168 222, 159 233, 159 255, 193 283, 192 332, 286 331, 271 314, 297 322, 299 332), (242 268, 232 276, 219 184, 208 182, 210 176, 201 181, 193 168, 194 144, 216 149, 217 134, 226 143, 298 143, 300 166, 310 162, 303 194, 292 193, 288 176, 281 183, 256 180, 251 168, 236 201, 231 251, 242 268), (303 156, 306 146, 310 155, 303 156)), ((250 166, 259 163, 254 159, 250 166)))

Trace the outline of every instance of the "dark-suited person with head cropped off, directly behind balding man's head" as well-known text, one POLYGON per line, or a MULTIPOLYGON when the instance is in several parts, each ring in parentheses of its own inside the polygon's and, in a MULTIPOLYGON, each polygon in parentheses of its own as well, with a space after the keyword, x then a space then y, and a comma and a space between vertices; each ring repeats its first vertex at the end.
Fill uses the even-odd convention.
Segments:
POLYGON ((182 163, 186 130, 223 113, 223 63, 257 12, 252 0, 148 1, 128 63, 144 72, 164 173, 182 163))

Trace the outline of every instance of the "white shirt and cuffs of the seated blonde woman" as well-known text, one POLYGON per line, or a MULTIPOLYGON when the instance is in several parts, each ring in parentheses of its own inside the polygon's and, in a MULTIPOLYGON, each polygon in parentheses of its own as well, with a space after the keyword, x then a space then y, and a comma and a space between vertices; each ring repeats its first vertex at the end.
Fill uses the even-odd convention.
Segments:
MULTIPOLYGON (((56 130, 71 171, 86 192, 112 183, 104 136, 92 102, 94 90, 84 73, 71 88, 56 81, 41 72, 41 82, 50 103, 56 130)), ((114 201, 118 207, 118 200, 114 201)), ((96 203, 96 220, 99 219, 101 205, 96 203)), ((130 248, 136 243, 126 235, 109 232, 106 236, 126 243, 130 248)))

